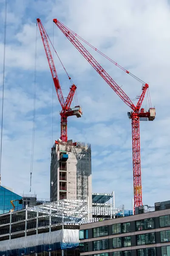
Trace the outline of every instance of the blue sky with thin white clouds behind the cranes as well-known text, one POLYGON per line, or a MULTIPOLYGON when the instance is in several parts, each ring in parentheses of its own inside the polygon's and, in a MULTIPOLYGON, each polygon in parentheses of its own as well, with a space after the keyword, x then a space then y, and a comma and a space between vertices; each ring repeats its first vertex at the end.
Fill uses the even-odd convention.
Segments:
MULTIPOLYGON (((0 0, 0 55, 3 56, 4 2, 0 0)), ((77 85, 83 116, 68 118, 68 138, 91 143, 93 192, 115 191, 118 207, 131 208, 133 198, 131 123, 129 108, 111 90, 62 32, 54 26, 58 18, 89 43, 150 85, 156 106, 154 122, 141 122, 143 203, 169 200, 169 67, 170 5, 167 0, 8 0, 6 80, 2 151, 2 184, 16 193, 29 193, 32 118, 34 103, 34 50, 36 18, 40 17, 53 39, 69 75, 77 85), (119 3, 118 3, 119 2, 119 3)), ((50 151, 60 134, 61 110, 54 91, 45 51, 37 33, 36 129, 32 191, 49 198, 50 151)), ((92 55, 131 99, 141 84, 106 61, 92 55)), ((64 96, 70 82, 54 57, 64 96)), ((3 58, 0 58, 2 90, 3 58)), ((0 96, 0 104, 2 94, 0 96)), ((1 106, 1 105, 0 105, 1 106)), ((144 100, 143 107, 146 107, 144 100)), ((148 108, 148 105, 147 105, 148 108)))

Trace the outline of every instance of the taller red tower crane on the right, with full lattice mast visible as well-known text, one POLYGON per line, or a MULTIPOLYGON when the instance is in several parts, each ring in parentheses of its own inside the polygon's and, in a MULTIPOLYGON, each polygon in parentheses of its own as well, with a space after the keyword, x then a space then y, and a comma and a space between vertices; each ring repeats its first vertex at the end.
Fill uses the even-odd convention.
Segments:
POLYGON ((78 51, 85 57, 85 59, 91 64, 92 67, 99 73, 100 76, 108 83, 108 85, 115 91, 115 93, 129 106, 132 111, 128 112, 128 116, 132 119, 132 148, 133 148, 133 189, 134 189, 134 210, 135 207, 142 205, 142 183, 141 183, 141 159, 140 159, 140 135, 139 135, 139 120, 149 120, 153 121, 155 119, 155 108, 149 108, 149 111, 145 111, 144 108, 141 108, 142 102, 144 100, 144 95, 149 87, 148 84, 143 83, 142 80, 136 78, 129 71, 125 70, 115 61, 112 61, 102 52, 97 50, 87 41, 79 37, 76 33, 74 33, 71 29, 62 24, 59 20, 54 19, 54 23, 58 26, 58 28, 63 32, 63 34, 68 38, 69 41, 78 49, 78 51), (119 87, 118 84, 109 76, 109 74, 102 68, 102 66, 94 59, 94 57, 88 52, 87 49, 80 43, 77 39, 81 39, 86 44, 91 46, 105 58, 109 59, 116 66, 120 67, 126 73, 130 74, 140 82, 142 82, 142 93, 139 97, 139 101, 135 106, 130 98, 126 95, 126 93, 119 87))

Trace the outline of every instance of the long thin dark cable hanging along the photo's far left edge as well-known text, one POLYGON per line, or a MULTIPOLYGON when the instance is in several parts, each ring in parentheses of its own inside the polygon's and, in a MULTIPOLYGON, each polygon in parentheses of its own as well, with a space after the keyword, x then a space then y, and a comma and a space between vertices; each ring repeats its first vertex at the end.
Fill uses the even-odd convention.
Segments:
POLYGON ((6 15, 7 15, 7 0, 5 1, 4 43, 3 43, 3 95, 2 95, 2 116, 1 116, 1 140, 0 140, 0 185, 1 185, 1 166, 2 166, 3 104, 4 104, 4 86, 5 86, 5 62, 6 62, 6 15))

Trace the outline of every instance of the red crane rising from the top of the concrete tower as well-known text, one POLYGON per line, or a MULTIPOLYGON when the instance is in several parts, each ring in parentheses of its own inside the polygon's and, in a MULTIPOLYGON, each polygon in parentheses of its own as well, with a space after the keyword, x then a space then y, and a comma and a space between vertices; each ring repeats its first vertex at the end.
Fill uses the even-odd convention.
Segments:
MULTIPOLYGON (((47 56, 48 64, 49 64, 49 67, 51 70, 51 75, 52 75, 52 78, 54 81, 54 86, 55 86, 57 96, 59 99, 59 103, 62 107, 62 111, 60 112, 60 116, 61 116, 61 137, 60 137, 60 139, 62 140, 62 142, 67 142, 67 117, 68 116, 77 116, 77 117, 82 116, 82 109, 80 108, 80 106, 75 106, 74 108, 71 108, 71 102, 73 100, 74 93, 75 93, 77 87, 75 84, 71 85, 70 92, 68 93, 67 99, 64 101, 61 86, 59 84, 59 79, 57 76, 57 71, 56 71, 56 68, 54 65, 54 60, 53 60, 51 50, 50 50, 50 47, 48 44, 48 38, 47 38, 48 35, 47 35, 45 28, 42 25, 42 22, 40 19, 37 19, 37 23, 38 23, 38 27, 40 30, 45 53, 47 56)), ((69 77, 69 79, 71 79, 71 78, 69 77)))

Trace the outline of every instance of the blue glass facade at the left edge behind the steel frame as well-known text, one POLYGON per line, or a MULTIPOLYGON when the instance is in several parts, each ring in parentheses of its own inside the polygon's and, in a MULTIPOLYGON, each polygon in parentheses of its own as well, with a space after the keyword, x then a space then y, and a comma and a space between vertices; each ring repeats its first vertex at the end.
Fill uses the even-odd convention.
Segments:
MULTIPOLYGON (((15 194, 14 192, 0 186, 0 214, 9 212, 13 209, 11 205, 11 200, 19 200, 22 199, 20 195, 15 194)), ((15 206, 15 210, 22 209, 22 204, 19 204, 18 201, 13 202, 15 206)))

